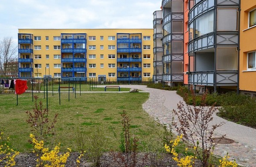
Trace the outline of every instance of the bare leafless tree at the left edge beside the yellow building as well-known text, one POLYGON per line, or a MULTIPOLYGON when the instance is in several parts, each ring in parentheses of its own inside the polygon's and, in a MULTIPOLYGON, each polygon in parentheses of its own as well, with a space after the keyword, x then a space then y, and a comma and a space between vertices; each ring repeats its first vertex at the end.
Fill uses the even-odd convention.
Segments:
POLYGON ((17 53, 17 46, 12 37, 4 37, 0 40, 0 75, 6 76, 7 65, 10 62, 15 62, 17 53))

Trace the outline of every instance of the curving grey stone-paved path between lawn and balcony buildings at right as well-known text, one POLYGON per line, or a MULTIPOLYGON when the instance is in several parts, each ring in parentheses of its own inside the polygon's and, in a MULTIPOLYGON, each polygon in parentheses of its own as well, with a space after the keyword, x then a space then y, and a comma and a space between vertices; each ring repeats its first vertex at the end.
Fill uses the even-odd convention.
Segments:
MULTIPOLYGON (((144 85, 121 85, 121 87, 132 87, 150 93, 149 99, 143 104, 143 109, 159 120, 160 123, 170 124, 172 121, 172 109, 177 109, 177 103, 183 99, 176 91, 165 91, 147 88, 144 85)), ((233 144, 219 144, 214 153, 218 156, 227 154, 234 158, 240 166, 256 167, 256 129, 245 127, 214 115, 212 123, 225 122, 216 129, 215 137, 226 134, 227 138, 235 141, 233 144)))

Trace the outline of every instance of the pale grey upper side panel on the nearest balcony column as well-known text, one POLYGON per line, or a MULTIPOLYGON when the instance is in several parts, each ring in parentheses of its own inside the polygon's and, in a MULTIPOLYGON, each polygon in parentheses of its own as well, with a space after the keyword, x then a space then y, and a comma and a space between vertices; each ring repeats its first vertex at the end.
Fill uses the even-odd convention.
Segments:
POLYGON ((238 9, 218 8, 217 11, 217 31, 237 31, 238 30, 238 9))

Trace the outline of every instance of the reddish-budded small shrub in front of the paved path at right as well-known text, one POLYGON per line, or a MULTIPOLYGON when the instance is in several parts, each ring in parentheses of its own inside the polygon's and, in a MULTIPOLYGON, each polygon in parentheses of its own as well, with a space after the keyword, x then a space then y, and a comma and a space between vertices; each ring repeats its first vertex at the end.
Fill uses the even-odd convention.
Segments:
MULTIPOLYGON (((193 105, 184 105, 183 102, 178 103, 178 110, 173 109, 173 113, 178 116, 179 124, 174 122, 173 125, 179 134, 183 134, 183 138, 193 143, 194 147, 201 147, 201 152, 196 149, 197 158, 201 160, 202 166, 208 166, 212 148, 216 145, 213 143, 212 135, 217 127, 223 125, 210 125, 213 117, 212 114, 216 112, 215 105, 206 106, 206 96, 208 91, 201 97, 201 105, 196 106, 196 95, 193 87, 190 87, 193 105)), ((185 100, 187 94, 185 95, 185 100)), ((224 137, 224 136, 222 136, 224 137)))

